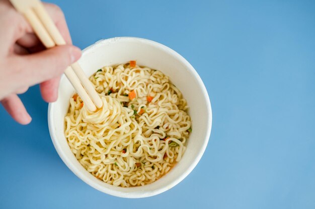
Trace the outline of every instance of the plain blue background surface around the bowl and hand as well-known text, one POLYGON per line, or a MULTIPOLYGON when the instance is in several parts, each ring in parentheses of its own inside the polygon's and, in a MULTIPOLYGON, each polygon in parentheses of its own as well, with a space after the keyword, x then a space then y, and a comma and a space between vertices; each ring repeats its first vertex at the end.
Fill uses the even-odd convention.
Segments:
POLYGON ((169 191, 110 196, 61 161, 35 86, 30 125, 0 108, 0 208, 315 208, 315 1, 52 2, 82 49, 134 36, 183 55, 210 96, 209 144, 169 191))

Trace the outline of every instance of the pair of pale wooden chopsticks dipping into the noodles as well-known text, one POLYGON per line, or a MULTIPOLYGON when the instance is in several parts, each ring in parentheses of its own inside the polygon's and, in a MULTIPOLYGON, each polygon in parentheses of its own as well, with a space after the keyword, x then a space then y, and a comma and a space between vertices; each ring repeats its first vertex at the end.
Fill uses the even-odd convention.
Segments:
MULTIPOLYGON (((10 0, 10 2, 18 12, 24 15, 32 26, 35 34, 46 48, 66 44, 39 0, 10 0)), ((67 67, 64 74, 77 94, 81 97, 88 110, 94 112, 97 108, 103 106, 103 102, 93 84, 77 62, 67 67)))

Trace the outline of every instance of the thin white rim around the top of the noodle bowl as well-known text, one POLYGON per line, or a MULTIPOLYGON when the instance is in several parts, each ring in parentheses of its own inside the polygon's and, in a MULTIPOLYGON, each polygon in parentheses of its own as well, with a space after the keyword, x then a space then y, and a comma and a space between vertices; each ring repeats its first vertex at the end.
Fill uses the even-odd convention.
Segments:
MULTIPOLYGON (((186 178, 188 176, 188 174, 196 167, 196 165, 198 164, 198 162, 200 161, 206 147, 209 141, 209 137, 210 137, 210 133, 211 133, 211 128, 212 128, 212 109, 211 109, 211 103, 210 103, 210 99, 209 99, 209 95, 207 93, 206 87, 204 85, 204 83, 202 82, 200 76, 198 75, 197 71, 194 69, 194 67, 184 58, 182 57, 180 54, 178 54, 176 51, 172 50, 171 48, 157 43, 155 41, 151 41, 148 39, 143 39, 143 38, 136 38, 136 37, 115 37, 115 38, 109 38, 109 39, 101 39, 97 42, 95 42, 94 44, 90 45, 89 47, 85 48, 82 51, 82 57, 89 53, 91 50, 93 50, 96 47, 99 47, 100 45, 106 46, 106 45, 110 45, 110 44, 114 44, 117 42, 140 42, 140 43, 144 43, 147 45, 151 45, 153 47, 159 48, 161 50, 163 50, 164 52, 176 57, 176 59, 178 59, 181 63, 183 63, 187 69, 194 75, 195 79, 197 79, 198 84, 202 90, 202 95, 205 97, 206 100, 206 108, 207 108, 207 118, 208 118, 208 124, 207 126, 209 127, 206 130, 206 134, 205 134, 205 139, 203 140, 203 144, 202 144, 202 149, 198 152, 197 156, 195 157, 194 161, 188 166, 188 169, 185 170, 181 175, 177 176, 174 181, 171 181, 169 184, 154 189, 154 190, 149 190, 149 191, 130 191, 130 192, 125 192, 125 191, 117 191, 117 190, 112 190, 110 188, 107 187, 103 187, 99 184, 96 184, 95 182, 93 182, 92 180, 90 180, 89 178, 86 177, 86 175, 84 173, 82 173, 80 170, 78 170, 74 165, 72 165, 71 161, 67 158, 67 156, 65 155, 64 151, 62 150, 57 136, 54 133, 54 122, 53 122, 53 108, 54 108, 54 103, 49 103, 48 104, 48 128, 49 128, 49 133, 50 133, 50 137, 52 140, 52 143, 59 155, 59 157, 61 158, 61 160, 66 164, 66 166, 81 180, 83 180, 85 183, 89 184, 90 186, 94 187, 95 189, 102 191, 104 193, 110 194, 110 195, 114 195, 114 196, 118 196, 118 197, 125 197, 125 198, 142 198, 142 197, 149 197, 149 196, 153 196, 153 195, 157 195, 160 194, 164 191, 167 191, 169 189, 171 189, 172 187, 174 187, 175 185, 177 185, 178 183, 180 183, 184 178, 186 178)), ((64 75, 62 75, 64 76, 64 75)), ((134 188, 134 187, 133 187, 134 188)))

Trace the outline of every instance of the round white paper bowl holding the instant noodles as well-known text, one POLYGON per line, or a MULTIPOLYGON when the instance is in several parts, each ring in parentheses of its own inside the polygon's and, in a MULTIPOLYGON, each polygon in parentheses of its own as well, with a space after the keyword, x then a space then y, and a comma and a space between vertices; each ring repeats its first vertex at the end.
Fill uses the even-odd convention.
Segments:
POLYGON ((197 165, 204 153, 211 131, 212 112, 208 93, 196 70, 174 50, 145 39, 119 37, 101 40, 83 50, 79 63, 88 76, 103 66, 136 60, 137 64, 162 71, 183 93, 189 105, 192 133, 187 150, 165 176, 137 187, 123 188, 107 184, 89 173, 75 158, 64 136, 64 116, 74 89, 61 77, 59 97, 48 106, 48 126, 52 142, 70 170, 92 187, 120 197, 140 198, 162 193, 182 181, 197 165))

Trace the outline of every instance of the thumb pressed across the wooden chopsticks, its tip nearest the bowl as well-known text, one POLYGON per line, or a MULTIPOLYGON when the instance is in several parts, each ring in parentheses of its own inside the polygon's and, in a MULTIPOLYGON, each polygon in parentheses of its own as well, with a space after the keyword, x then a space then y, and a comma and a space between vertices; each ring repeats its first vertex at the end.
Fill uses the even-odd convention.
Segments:
POLYGON ((67 66, 81 57, 72 45, 57 46, 39 53, 15 57, 12 71, 24 86, 32 86, 60 76, 67 66), (14 72, 17 71, 17 72, 14 72))

